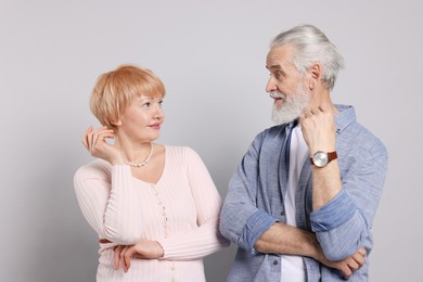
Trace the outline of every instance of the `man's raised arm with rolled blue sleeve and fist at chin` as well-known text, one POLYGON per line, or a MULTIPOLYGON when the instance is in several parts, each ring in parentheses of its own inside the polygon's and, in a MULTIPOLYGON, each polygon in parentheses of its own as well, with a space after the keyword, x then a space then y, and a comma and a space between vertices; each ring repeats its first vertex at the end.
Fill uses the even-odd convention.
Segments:
MULTIPOLYGON (((311 110, 302 115, 299 123, 310 154, 335 151, 332 112, 311 110)), ((348 159, 344 154, 344 158, 323 168, 312 167, 311 228, 324 255, 332 260, 350 256, 359 246, 371 247, 369 233, 387 167, 385 146, 361 126, 350 127, 341 138, 344 146, 345 140, 349 142, 348 159), (346 166, 342 180, 341 162, 346 166)))

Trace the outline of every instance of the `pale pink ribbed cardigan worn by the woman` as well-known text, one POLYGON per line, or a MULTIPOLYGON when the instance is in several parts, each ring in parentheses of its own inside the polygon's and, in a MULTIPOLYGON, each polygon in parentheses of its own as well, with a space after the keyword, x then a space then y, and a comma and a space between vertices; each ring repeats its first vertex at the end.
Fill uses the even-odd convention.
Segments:
POLYGON ((229 245, 218 229, 221 198, 200 156, 190 148, 165 146, 157 183, 133 178, 128 165, 97 159, 74 177, 82 214, 99 234, 97 281, 205 281, 203 257, 229 245), (133 259, 127 273, 113 269, 116 244, 157 241, 161 259, 133 259))

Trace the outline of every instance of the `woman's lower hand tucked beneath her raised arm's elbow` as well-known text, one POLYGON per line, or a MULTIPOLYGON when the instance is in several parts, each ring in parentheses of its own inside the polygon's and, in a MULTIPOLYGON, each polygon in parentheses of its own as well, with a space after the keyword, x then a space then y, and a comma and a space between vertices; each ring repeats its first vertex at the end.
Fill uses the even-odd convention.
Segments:
POLYGON ((115 270, 119 269, 119 264, 121 264, 124 271, 128 272, 131 258, 140 258, 140 259, 157 259, 163 257, 164 252, 156 241, 151 241, 146 239, 141 239, 134 245, 125 246, 118 245, 115 246, 115 270))

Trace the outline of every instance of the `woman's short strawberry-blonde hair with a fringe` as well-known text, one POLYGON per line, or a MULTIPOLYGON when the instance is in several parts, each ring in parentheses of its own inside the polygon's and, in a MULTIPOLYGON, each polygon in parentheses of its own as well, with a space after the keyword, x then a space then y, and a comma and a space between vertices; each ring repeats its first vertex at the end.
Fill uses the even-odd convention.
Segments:
POLYGON ((164 98, 165 92, 162 80, 150 69, 121 65, 98 78, 90 108, 103 126, 116 129, 114 124, 134 98, 164 98))

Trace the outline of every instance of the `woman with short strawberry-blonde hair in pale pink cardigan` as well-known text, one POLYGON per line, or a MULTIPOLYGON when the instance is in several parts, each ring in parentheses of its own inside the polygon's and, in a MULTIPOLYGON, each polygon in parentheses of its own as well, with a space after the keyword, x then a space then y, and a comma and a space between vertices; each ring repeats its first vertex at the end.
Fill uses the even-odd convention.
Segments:
POLYGON ((103 125, 82 143, 97 159, 74 178, 99 234, 97 281, 205 281, 203 257, 229 245, 218 231, 221 198, 200 156, 155 143, 165 87, 125 65, 100 76, 91 111, 103 125))

